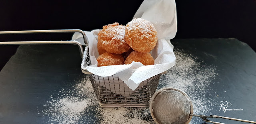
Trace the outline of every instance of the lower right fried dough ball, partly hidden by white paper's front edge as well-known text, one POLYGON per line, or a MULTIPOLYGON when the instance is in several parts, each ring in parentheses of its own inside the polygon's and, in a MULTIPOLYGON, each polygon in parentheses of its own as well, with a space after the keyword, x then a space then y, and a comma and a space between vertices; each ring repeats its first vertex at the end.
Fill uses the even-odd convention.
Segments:
POLYGON ((150 53, 146 52, 133 51, 130 55, 128 55, 124 61, 124 64, 131 64, 132 61, 141 62, 143 65, 154 65, 154 58, 150 53))

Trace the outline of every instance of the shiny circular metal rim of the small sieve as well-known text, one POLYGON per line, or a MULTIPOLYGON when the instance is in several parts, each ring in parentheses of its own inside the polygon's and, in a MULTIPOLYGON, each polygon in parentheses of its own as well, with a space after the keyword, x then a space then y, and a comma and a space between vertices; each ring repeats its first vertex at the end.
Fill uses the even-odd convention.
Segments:
POLYGON ((190 100, 190 98, 188 97, 188 95, 180 90, 180 89, 177 89, 177 88, 174 88, 174 87, 164 87, 164 88, 161 88, 159 89, 158 91, 156 91, 156 93, 153 94, 153 96, 151 97, 151 100, 150 100, 150 103, 149 103, 149 107, 150 107, 150 114, 153 118, 153 120, 156 122, 156 124, 161 124, 158 122, 158 120, 156 120, 154 114, 153 114, 153 103, 154 103, 154 99, 156 98, 156 96, 161 93, 162 91, 167 91, 167 90, 174 90, 174 91, 178 91, 180 93, 182 93, 184 96, 186 96, 186 98, 188 99, 188 102, 190 103, 190 117, 188 118, 187 122, 185 124, 188 124, 191 119, 192 119, 192 115, 193 115, 193 104, 192 104, 192 101, 190 100))

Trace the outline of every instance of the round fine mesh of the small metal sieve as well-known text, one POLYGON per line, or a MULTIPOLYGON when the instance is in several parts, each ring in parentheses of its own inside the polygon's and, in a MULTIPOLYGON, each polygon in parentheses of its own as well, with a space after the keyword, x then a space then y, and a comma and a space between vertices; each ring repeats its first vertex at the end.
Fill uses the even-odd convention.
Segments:
POLYGON ((152 102, 152 114, 160 124, 185 124, 190 118, 190 101, 179 91, 161 91, 152 102))

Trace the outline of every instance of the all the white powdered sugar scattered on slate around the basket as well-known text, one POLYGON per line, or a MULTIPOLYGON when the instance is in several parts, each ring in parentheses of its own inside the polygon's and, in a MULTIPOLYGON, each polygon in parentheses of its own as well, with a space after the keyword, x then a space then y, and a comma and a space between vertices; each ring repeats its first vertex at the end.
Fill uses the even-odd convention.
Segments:
MULTIPOLYGON (((211 100, 205 94, 210 81, 215 78, 215 68, 198 62, 200 59, 176 49, 176 65, 162 75, 158 89, 175 87, 188 94, 194 105, 194 114, 208 114, 211 100)), ((79 81, 69 89, 60 91, 46 104, 43 111, 49 123, 57 124, 154 124, 149 108, 101 108, 88 77, 79 77, 79 81)), ((208 94, 211 95, 211 94, 208 94)), ((193 117, 190 124, 198 118, 193 117)), ((199 118, 200 120, 200 118, 199 118)))

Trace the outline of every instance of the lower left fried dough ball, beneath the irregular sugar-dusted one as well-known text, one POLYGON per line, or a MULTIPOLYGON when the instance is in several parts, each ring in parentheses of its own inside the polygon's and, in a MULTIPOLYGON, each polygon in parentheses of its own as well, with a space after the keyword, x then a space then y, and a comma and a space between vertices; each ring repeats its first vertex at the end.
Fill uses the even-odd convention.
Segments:
POLYGON ((98 67, 108 65, 123 65, 124 57, 121 54, 103 53, 98 58, 98 67))

